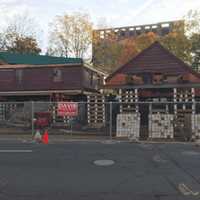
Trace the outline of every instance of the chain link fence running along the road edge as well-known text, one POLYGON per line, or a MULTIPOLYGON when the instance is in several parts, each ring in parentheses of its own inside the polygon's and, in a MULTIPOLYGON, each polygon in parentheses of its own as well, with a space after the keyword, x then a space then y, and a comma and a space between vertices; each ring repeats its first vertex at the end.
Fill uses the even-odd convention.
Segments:
POLYGON ((0 134, 46 129, 51 135, 191 141, 200 138, 200 103, 0 103, 0 134))

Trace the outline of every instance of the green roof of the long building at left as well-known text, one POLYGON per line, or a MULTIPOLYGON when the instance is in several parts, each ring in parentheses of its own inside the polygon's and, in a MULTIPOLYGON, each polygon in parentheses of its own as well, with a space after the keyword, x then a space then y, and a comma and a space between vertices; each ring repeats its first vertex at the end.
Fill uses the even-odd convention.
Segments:
POLYGON ((34 54, 18 54, 11 52, 0 52, 0 60, 7 64, 49 65, 82 63, 81 58, 53 57, 34 54))

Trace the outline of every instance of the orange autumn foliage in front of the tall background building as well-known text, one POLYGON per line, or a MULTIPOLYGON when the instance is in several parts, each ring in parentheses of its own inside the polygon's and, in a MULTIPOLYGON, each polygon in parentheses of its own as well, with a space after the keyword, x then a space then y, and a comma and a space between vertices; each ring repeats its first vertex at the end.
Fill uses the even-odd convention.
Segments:
POLYGON ((122 40, 117 39, 113 32, 106 33, 105 38, 93 38, 94 59, 96 66, 111 73, 122 66, 143 49, 147 48, 157 39, 153 32, 144 33, 138 37, 129 37, 122 40))

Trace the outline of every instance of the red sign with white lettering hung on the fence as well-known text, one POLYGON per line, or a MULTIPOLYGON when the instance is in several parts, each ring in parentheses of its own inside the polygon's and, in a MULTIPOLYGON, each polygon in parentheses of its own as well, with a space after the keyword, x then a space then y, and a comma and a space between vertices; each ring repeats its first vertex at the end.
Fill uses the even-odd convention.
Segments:
POLYGON ((57 109, 58 116, 75 117, 78 115, 78 104, 74 102, 60 102, 57 109))

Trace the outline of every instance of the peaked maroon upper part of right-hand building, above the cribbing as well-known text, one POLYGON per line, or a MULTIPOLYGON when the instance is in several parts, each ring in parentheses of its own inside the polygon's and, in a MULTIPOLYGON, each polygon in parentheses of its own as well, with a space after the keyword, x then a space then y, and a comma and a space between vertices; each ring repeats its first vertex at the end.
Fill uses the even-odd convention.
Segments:
POLYGON ((150 89, 146 95, 143 93, 143 96, 148 98, 162 96, 158 92, 164 88, 199 88, 199 83, 199 73, 159 42, 155 42, 109 75, 106 79, 106 88, 137 88, 143 91, 150 89), (155 89, 155 92, 152 89, 155 89))

